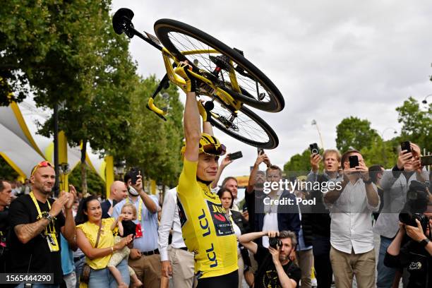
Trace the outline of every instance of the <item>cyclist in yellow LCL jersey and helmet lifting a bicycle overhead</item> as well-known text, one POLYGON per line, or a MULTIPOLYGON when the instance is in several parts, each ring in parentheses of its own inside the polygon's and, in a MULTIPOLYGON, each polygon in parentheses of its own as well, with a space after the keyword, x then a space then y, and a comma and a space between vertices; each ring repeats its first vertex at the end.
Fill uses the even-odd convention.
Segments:
MULTIPOLYGON (((198 288, 238 287, 237 241, 231 221, 226 216, 217 194, 210 191, 215 180, 224 145, 214 136, 200 131, 200 111, 205 124, 207 117, 196 102, 195 79, 188 73, 190 66, 182 63, 176 73, 186 80, 186 105, 182 148, 184 166, 177 186, 179 216, 184 242, 195 253, 198 288)), ((211 128, 210 128, 211 129, 211 128)))

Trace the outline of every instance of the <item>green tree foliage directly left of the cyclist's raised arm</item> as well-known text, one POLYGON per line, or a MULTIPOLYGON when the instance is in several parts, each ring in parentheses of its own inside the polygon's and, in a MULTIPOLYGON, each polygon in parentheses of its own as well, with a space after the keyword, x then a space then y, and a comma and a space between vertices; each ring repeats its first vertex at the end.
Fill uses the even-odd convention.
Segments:
POLYGON ((126 160, 128 167, 141 167, 143 174, 157 182, 175 186, 181 172, 180 149, 183 140, 183 104, 174 85, 160 94, 168 93, 169 98, 157 96, 158 107, 168 107, 167 121, 146 109, 149 97, 159 81, 155 76, 140 79, 131 97, 128 109, 131 116, 131 143, 124 145, 116 155, 126 160))

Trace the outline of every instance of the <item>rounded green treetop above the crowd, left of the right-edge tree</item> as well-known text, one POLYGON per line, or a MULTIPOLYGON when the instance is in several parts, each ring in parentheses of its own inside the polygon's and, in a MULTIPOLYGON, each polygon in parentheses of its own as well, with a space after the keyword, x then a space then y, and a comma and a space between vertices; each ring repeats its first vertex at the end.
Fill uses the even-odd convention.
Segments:
POLYGON ((376 130, 371 128, 371 122, 353 116, 343 119, 336 126, 336 133, 336 147, 342 153, 349 148, 369 148, 380 137, 376 130))

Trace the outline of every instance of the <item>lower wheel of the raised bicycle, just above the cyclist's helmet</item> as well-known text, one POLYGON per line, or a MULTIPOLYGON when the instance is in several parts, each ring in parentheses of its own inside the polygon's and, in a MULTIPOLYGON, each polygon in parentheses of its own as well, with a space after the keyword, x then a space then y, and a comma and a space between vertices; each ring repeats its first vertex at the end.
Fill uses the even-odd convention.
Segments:
MULTIPOLYGON (((211 97, 200 96, 200 99, 210 100, 211 97)), ((237 112, 231 112, 224 104, 213 101, 215 107, 211 110, 213 116, 210 123, 220 131, 248 145, 263 149, 274 149, 279 145, 275 131, 257 114, 244 105, 237 112)))

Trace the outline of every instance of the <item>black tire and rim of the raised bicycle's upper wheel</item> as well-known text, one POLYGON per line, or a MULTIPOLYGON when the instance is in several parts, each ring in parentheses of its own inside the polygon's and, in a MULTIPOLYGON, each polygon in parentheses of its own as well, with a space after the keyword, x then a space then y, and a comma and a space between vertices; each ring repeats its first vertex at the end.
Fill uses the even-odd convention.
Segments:
MULTIPOLYGON (((282 111, 282 109, 284 109, 284 97, 277 89, 276 85, 273 84, 272 81, 267 76, 265 76, 262 71, 260 71, 260 69, 254 66, 242 54, 228 47, 226 44, 220 42, 220 40, 217 40, 215 37, 212 37, 207 33, 197 28, 194 28, 191 25, 172 19, 157 20, 155 23, 155 33, 160 42, 170 53, 172 53, 176 57, 176 59, 179 59, 180 61, 188 60, 189 64, 191 64, 192 66, 195 65, 193 64, 193 61, 191 61, 191 56, 184 56, 183 54, 181 54, 180 50, 177 47, 178 45, 174 44, 170 39, 169 35, 173 32, 191 37, 194 40, 201 42, 201 44, 204 43, 208 47, 217 50, 217 52, 220 52, 220 54, 228 56, 229 59, 231 59, 237 66, 240 66, 244 71, 248 73, 249 76, 247 78, 251 78, 252 76, 253 78, 251 78, 251 80, 256 80, 261 85, 261 87, 264 88, 265 92, 268 93, 269 98, 267 102, 259 100, 259 89, 257 89, 258 91, 256 92, 256 97, 254 97, 253 95, 244 95, 244 93, 242 92, 232 94, 232 97, 234 99, 266 112, 280 112, 282 111)), ((179 42, 179 44, 181 43, 179 42)), ((237 73, 237 76, 239 76, 239 73, 237 73)), ((242 91, 245 88, 245 86, 241 86, 242 91)))

